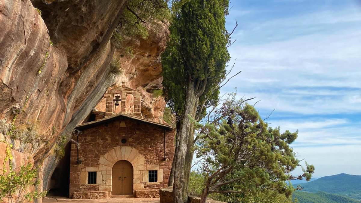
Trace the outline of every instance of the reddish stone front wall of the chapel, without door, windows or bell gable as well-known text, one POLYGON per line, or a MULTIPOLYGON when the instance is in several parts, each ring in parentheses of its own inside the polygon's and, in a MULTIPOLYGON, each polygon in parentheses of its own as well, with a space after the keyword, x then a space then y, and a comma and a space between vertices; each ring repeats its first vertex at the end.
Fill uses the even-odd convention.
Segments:
POLYGON ((134 195, 156 197, 153 191, 143 190, 168 186, 174 155, 174 130, 169 126, 119 114, 77 129, 81 133, 73 140, 78 145, 73 142, 70 151, 70 198, 112 195, 112 167, 119 160, 132 164, 134 195), (148 170, 157 171, 157 182, 148 182, 148 170), (88 172, 96 172, 95 184, 88 184, 88 172))

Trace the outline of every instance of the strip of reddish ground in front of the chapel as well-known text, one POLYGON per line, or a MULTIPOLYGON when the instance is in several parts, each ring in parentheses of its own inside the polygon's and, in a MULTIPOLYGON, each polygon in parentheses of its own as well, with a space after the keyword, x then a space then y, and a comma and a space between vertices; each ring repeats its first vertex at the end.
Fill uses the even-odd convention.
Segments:
POLYGON ((160 203, 159 198, 108 198, 108 199, 68 199, 58 196, 47 196, 43 198, 43 203, 71 202, 71 203, 160 203))

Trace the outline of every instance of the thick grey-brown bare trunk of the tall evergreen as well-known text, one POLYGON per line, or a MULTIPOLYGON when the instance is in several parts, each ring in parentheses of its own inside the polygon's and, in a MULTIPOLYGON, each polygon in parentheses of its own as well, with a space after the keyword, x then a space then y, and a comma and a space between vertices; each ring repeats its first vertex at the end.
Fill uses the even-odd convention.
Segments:
POLYGON ((184 117, 179 132, 179 147, 178 153, 175 157, 175 170, 174 170, 174 185, 173 185, 173 202, 185 203, 187 202, 187 190, 185 182, 188 182, 185 177, 185 161, 188 148, 188 139, 190 130, 193 130, 192 121, 190 117, 195 115, 194 109, 197 104, 197 98, 194 90, 194 81, 188 82, 186 91, 186 105, 184 106, 184 117))

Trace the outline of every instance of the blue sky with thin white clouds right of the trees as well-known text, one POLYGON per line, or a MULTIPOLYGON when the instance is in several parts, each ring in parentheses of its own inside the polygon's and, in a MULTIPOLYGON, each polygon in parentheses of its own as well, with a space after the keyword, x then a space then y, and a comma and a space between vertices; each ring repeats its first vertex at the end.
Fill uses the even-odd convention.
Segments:
MULTIPOLYGON (((229 48, 242 73, 222 92, 256 96, 314 177, 361 174, 361 1, 231 0, 229 48)), ((300 173, 300 169, 295 174, 300 173)))

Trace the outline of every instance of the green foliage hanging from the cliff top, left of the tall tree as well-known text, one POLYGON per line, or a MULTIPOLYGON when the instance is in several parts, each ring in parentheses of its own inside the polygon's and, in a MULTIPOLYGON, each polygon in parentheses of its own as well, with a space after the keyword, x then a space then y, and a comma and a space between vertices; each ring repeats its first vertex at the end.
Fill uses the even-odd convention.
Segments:
POLYGON ((136 37, 147 39, 149 33, 146 23, 155 26, 157 21, 169 19, 167 2, 167 0, 129 0, 113 32, 113 42, 117 48, 129 53, 129 48, 122 46, 122 42, 136 37))

